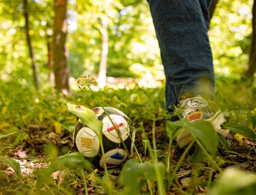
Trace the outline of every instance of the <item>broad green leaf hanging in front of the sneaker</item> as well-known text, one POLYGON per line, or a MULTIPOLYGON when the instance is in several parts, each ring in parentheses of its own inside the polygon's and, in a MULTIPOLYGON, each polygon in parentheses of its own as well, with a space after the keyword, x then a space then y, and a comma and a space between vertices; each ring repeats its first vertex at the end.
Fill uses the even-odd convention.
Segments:
POLYGON ((213 155, 216 154, 218 147, 218 137, 216 131, 209 121, 186 121, 184 128, 194 134, 195 137, 199 139, 199 141, 205 146, 206 150, 208 150, 213 155))

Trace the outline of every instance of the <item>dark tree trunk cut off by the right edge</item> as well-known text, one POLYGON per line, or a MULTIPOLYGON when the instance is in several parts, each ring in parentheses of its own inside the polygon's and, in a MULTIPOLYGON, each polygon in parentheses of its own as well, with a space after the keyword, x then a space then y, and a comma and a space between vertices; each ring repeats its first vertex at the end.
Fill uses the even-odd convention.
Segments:
POLYGON ((253 80, 253 75, 256 71, 256 0, 253 1, 252 8, 252 38, 251 49, 249 56, 249 64, 246 72, 246 76, 253 80))

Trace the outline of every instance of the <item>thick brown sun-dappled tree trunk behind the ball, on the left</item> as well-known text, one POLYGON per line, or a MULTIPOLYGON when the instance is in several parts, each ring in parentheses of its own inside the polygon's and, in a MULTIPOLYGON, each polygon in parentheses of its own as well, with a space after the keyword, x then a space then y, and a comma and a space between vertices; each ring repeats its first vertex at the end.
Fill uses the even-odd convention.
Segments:
POLYGON ((69 66, 68 66, 68 48, 67 40, 67 0, 55 0, 55 18, 53 33, 53 61, 54 61, 54 79, 55 88, 63 94, 70 93, 68 83, 69 66))

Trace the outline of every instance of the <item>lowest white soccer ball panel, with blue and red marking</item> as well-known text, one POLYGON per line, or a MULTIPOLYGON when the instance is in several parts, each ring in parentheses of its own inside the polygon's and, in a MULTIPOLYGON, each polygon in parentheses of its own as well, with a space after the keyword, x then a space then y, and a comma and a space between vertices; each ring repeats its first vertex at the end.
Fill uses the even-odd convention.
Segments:
MULTIPOLYGON (((121 148, 109 150, 108 152, 105 153, 106 165, 108 168, 115 168, 119 164, 122 164, 122 162, 124 162, 126 158, 127 158, 127 153, 125 152, 124 149, 121 149, 121 148)), ((101 168, 104 168, 102 157, 100 158, 99 165, 101 168)))

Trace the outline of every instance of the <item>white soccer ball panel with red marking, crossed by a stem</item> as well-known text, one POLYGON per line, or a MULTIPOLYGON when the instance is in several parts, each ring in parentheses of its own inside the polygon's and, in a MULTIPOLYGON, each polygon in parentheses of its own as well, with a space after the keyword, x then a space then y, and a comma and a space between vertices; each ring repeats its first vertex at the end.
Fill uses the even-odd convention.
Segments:
MULTIPOLYGON (((111 119, 115 123, 116 129, 120 132, 120 136, 123 140, 127 139, 129 137, 129 125, 127 121, 119 115, 111 114, 111 119)), ((113 127, 111 121, 108 117, 104 117, 102 120, 103 123, 103 134, 108 137, 109 140, 115 142, 115 143, 121 143, 121 140, 119 139, 119 135, 116 133, 115 127, 113 127)))

